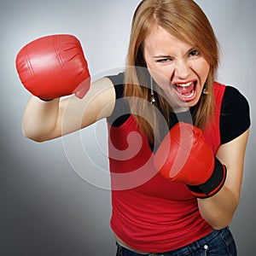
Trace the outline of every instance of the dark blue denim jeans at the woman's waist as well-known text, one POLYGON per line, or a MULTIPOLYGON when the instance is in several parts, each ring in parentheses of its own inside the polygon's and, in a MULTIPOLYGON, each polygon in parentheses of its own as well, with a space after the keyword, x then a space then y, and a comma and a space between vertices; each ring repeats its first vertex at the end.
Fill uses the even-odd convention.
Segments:
POLYGON ((230 232, 230 229, 224 228, 223 230, 212 230, 212 232, 194 241, 188 246, 178 248, 171 252, 166 253, 136 253, 117 243, 116 256, 236 256, 236 244, 230 232))

